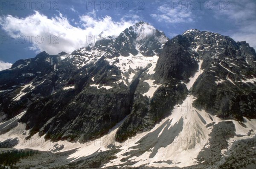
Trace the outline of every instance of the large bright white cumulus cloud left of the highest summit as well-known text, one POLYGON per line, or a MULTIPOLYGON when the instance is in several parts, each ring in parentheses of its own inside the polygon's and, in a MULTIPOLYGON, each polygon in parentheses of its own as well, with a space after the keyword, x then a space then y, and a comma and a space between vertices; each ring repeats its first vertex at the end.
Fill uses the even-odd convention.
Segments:
POLYGON ((28 17, 15 17, 6 15, 0 18, 2 29, 12 37, 21 37, 31 42, 30 50, 36 52, 46 51, 49 54, 57 54, 61 51, 72 52, 81 47, 95 43, 96 35, 116 35, 136 21, 113 21, 106 16, 96 18, 95 11, 88 15, 80 16, 80 27, 72 26, 61 13, 59 16, 48 18, 44 14, 35 11, 28 17), (102 32, 103 31, 103 32, 102 32), (90 40, 88 40, 90 38, 90 40), (43 40, 42 40, 43 39, 43 40))

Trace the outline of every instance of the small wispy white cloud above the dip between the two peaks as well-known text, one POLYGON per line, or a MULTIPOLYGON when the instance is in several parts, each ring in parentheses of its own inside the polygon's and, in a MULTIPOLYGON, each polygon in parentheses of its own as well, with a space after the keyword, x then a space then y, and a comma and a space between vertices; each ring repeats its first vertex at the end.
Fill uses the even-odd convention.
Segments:
POLYGON ((162 5, 157 8, 157 12, 150 14, 158 22, 166 23, 183 23, 192 22, 195 17, 191 11, 186 9, 172 9, 167 5, 162 5))

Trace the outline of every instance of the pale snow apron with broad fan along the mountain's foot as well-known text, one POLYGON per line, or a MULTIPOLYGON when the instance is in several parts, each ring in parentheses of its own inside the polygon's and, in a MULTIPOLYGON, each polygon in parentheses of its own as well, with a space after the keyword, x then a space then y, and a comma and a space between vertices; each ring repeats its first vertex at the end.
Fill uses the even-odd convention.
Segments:
MULTIPOLYGON (((232 121, 235 125, 236 136, 228 139, 229 146, 221 149, 222 153, 231 149, 236 140, 253 138, 255 136, 256 120, 246 120, 245 123, 238 123, 235 120, 221 120, 212 116, 204 110, 198 110, 192 106, 195 97, 188 95, 186 100, 175 109, 168 117, 155 125, 148 132, 137 134, 123 143, 114 140, 116 131, 123 121, 113 127, 109 133, 99 139, 86 143, 70 143, 67 141, 51 142, 35 134, 29 140, 25 140, 29 131, 25 130, 24 123, 18 125, 11 131, 1 135, 1 140, 17 138, 20 142, 16 149, 36 149, 40 151, 65 152, 76 149, 70 154, 68 159, 76 161, 79 158, 93 155, 97 152, 104 152, 118 147, 121 151, 116 154, 116 158, 104 165, 108 166, 127 166, 127 161, 131 161, 131 166, 155 166, 155 167, 185 167, 198 164, 198 154, 203 149, 210 147, 209 134, 212 128, 218 123, 232 121), (212 124, 212 125, 211 125, 212 124), (247 135, 253 130, 251 135, 247 135), (126 159, 123 161, 123 159, 126 159)), ((23 114, 14 117, 6 123, 14 123, 23 114)), ((17 123, 17 121, 16 121, 17 123)), ((5 124, 5 123, 4 123, 5 124)), ((1 124, 4 125, 4 124, 1 124)), ((216 140, 218 141, 218 140, 216 140)))

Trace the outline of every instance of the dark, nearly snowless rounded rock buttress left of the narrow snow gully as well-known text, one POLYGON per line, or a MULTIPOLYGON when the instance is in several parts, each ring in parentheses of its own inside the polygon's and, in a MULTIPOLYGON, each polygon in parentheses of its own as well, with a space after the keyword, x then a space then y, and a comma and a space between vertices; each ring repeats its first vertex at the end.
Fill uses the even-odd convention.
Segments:
POLYGON ((187 83, 198 69, 198 54, 189 47, 188 39, 182 35, 169 40, 157 60, 156 76, 164 81, 177 79, 187 83))

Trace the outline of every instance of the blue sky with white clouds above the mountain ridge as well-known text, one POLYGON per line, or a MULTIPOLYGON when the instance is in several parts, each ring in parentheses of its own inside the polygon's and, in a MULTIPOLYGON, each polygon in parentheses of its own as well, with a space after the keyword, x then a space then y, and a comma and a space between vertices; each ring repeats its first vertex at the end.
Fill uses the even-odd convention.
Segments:
POLYGON ((42 51, 70 53, 141 20, 169 38, 199 29, 256 49, 255 0, 1 0, 0 70, 42 51))

